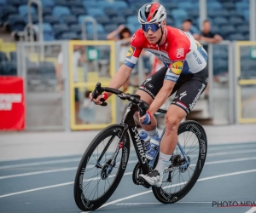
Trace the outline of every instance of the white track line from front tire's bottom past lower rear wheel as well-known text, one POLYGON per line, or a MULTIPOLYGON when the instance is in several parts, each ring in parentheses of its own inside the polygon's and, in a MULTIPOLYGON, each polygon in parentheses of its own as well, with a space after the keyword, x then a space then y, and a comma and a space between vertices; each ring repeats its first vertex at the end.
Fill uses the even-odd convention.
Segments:
MULTIPOLYGON (((224 175, 219 175, 219 176, 209 176, 209 177, 205 177, 205 178, 200 178, 198 179, 197 181, 208 181, 208 180, 212 180, 212 179, 216 179, 216 178, 220 178, 220 177, 225 177, 225 176, 236 176, 236 175, 241 175, 241 174, 246 174, 246 173, 251 173, 251 172, 256 172, 256 170, 244 170, 244 171, 238 171, 238 172, 232 172, 232 173, 228 173, 228 174, 224 174, 224 175)), ((184 182, 182 183, 178 183, 178 184, 175 184, 175 185, 172 185, 172 186, 169 186, 169 187, 176 187, 176 186, 179 186, 179 185, 183 185, 184 182)), ((164 188, 168 188, 168 187, 164 187, 164 188)), ((152 193, 152 190, 149 190, 147 192, 143 192, 143 193, 136 193, 136 194, 133 194, 133 195, 130 195, 130 196, 127 196, 123 199, 116 199, 116 200, 113 200, 107 204, 103 204, 99 209, 105 207, 105 206, 108 206, 110 204, 116 204, 120 201, 123 201, 125 199, 133 199, 135 197, 138 197, 140 195, 143 195, 143 194, 146 194, 146 193, 152 193)), ((82 211, 84 212, 84 211, 82 211)))

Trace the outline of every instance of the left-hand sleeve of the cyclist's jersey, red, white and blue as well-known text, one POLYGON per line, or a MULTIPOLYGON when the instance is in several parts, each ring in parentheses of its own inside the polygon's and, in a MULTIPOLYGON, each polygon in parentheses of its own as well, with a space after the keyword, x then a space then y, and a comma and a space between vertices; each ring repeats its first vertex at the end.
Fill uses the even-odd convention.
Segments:
POLYGON ((126 66, 129 66, 131 68, 136 66, 137 60, 143 50, 142 43, 143 43, 143 36, 141 35, 141 32, 138 30, 133 34, 131 38, 130 47, 126 54, 125 63, 124 63, 126 66))

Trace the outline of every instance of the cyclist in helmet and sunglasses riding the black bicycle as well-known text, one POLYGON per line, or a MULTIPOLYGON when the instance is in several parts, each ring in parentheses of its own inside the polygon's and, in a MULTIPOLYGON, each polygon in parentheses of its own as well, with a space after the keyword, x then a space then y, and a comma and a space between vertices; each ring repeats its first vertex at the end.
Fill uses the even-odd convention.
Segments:
MULTIPOLYGON (((207 87, 207 52, 191 34, 166 26, 166 9, 160 3, 144 4, 138 11, 138 20, 142 28, 134 33, 125 63, 119 67, 109 87, 119 89, 125 83, 143 49, 163 61, 165 66, 146 79, 137 91, 148 103, 148 111, 141 118, 136 113, 143 130, 151 137, 157 136, 154 112, 168 96, 177 92, 166 113, 166 131, 160 141, 158 164, 152 172, 140 175, 150 185, 160 187, 163 171, 177 146, 177 128, 207 87)), ((102 104, 110 95, 104 93, 93 101, 102 104)))

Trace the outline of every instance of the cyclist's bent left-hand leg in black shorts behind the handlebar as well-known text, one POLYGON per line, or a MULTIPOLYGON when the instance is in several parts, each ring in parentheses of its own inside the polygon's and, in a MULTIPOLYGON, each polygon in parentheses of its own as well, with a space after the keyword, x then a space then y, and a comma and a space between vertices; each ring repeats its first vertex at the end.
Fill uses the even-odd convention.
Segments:
MULTIPOLYGON (((154 75, 148 77, 137 90, 137 95, 140 95, 141 99, 146 103, 148 103, 148 106, 151 105, 151 103, 154 100, 154 97, 160 91, 163 85, 163 80, 165 78, 166 71, 167 71, 167 67, 166 66, 162 67, 158 72, 155 72, 154 75)), ((137 113, 135 114, 135 118, 137 118, 137 121, 138 121, 137 113)), ((143 130, 146 130, 146 131, 156 130, 156 126, 157 126, 156 118, 152 116, 151 124, 146 124, 146 125, 141 124, 141 126, 143 130)))

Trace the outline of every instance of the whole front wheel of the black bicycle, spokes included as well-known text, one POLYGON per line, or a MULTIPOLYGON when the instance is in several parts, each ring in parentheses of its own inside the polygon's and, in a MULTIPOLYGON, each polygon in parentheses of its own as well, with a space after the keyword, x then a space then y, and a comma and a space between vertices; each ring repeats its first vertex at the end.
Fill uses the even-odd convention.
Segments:
POLYGON ((90 142, 74 181, 73 193, 80 210, 96 210, 104 204, 118 187, 130 153, 129 135, 120 124, 113 124, 102 130, 90 142), (114 158, 116 156, 116 158, 114 158))

